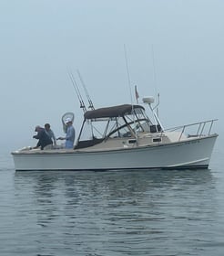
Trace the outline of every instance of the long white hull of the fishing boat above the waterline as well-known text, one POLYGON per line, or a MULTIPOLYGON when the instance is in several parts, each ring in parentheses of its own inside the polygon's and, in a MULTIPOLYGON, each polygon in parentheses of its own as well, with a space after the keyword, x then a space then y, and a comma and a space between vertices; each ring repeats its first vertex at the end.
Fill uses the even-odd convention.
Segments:
POLYGON ((217 134, 187 141, 117 150, 15 151, 15 170, 208 168, 217 134))

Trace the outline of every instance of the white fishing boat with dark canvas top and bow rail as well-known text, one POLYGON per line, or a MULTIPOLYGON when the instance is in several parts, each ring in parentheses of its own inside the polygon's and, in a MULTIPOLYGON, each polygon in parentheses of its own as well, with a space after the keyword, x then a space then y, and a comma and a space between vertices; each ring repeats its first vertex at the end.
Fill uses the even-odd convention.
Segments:
POLYGON ((15 150, 15 170, 208 169, 217 120, 165 129, 153 102, 87 110, 74 148, 15 150))

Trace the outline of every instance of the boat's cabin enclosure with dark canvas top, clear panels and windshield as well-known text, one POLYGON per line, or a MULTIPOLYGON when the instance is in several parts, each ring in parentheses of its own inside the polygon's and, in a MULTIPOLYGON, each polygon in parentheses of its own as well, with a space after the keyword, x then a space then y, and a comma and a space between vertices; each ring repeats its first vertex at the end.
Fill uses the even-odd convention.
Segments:
POLYGON ((87 111, 75 149, 86 148, 112 138, 137 138, 138 133, 160 132, 141 105, 123 104, 87 111))

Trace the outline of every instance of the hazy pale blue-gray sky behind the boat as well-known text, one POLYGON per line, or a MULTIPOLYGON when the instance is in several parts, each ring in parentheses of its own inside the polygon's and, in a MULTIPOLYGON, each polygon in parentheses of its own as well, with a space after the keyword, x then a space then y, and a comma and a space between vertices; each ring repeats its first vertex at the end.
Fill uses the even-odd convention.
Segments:
POLYGON ((131 88, 160 93, 165 127, 219 118, 221 133, 223 10, 223 0, 1 1, 2 143, 34 145, 44 123, 60 136, 65 112, 75 112, 77 133, 67 69, 79 69, 96 108, 131 102, 124 45, 131 88))

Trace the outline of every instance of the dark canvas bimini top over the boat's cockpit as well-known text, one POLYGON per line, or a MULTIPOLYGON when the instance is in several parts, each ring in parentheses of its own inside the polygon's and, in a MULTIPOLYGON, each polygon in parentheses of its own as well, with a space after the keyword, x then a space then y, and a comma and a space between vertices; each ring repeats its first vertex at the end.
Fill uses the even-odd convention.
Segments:
POLYGON ((95 118, 109 118, 109 117, 118 117, 124 116, 125 114, 131 114, 133 110, 141 109, 145 111, 145 108, 140 105, 131 105, 131 104, 123 104, 113 107, 100 108, 93 111, 87 111, 84 114, 84 118, 87 119, 95 119, 95 118))

